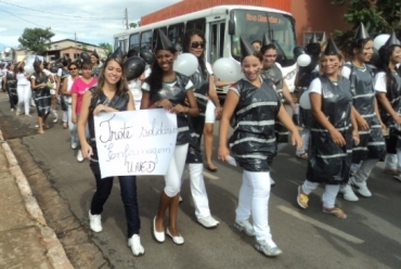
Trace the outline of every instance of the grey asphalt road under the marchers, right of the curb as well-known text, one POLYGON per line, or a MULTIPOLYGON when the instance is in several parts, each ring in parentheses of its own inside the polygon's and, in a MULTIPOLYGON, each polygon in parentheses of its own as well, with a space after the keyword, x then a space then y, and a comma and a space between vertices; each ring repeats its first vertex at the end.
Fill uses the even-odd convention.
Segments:
POLYGON ((87 213, 95 189, 94 179, 87 162, 77 163, 76 152, 69 148, 68 131, 56 124, 44 134, 37 134, 36 118, 11 115, 4 93, 0 93, 0 112, 4 137, 15 148, 20 146, 17 155, 30 154, 46 171, 85 234, 107 260, 102 268, 400 268, 401 183, 381 174, 383 164, 377 165, 368 181, 374 193, 372 198, 361 198, 358 203, 338 200, 338 205, 348 214, 348 219, 342 220, 321 212, 322 189, 310 196, 307 210, 297 206, 297 185, 303 181, 306 163, 294 157, 292 146, 285 146, 273 166, 276 185, 269 208, 273 239, 283 255, 272 259, 257 253, 254 241, 232 227, 241 185, 238 168, 217 162, 218 172, 205 171, 210 208, 221 222, 214 230, 206 230, 196 222, 186 176, 178 220, 185 239, 183 246, 174 245, 169 239, 163 244, 153 240, 152 218, 163 190, 163 178, 139 177, 141 240, 145 255, 134 258, 126 245, 118 180, 102 215, 103 232, 90 232, 87 213), (25 153, 21 146, 26 149, 25 153))

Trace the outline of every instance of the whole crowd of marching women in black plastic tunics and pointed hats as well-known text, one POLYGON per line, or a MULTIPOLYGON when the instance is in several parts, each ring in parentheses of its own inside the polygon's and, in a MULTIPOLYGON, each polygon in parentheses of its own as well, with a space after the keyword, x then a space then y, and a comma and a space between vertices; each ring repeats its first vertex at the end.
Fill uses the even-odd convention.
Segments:
MULTIPOLYGON (((301 133, 283 105, 286 100, 295 112, 298 111, 275 62, 277 50, 269 35, 263 37, 263 41, 256 40, 255 47, 241 38, 243 78, 220 81, 214 76, 211 65, 205 61, 206 39, 200 30, 191 29, 183 38, 183 52, 198 59, 198 68, 190 77, 173 71, 177 50, 163 31, 157 34, 153 53, 139 55, 147 64, 140 77, 132 77, 131 69, 127 67, 130 59, 138 56, 137 52, 131 50, 124 55, 119 48, 103 64, 99 64, 95 53, 83 55, 87 61, 82 62, 64 59, 61 68, 53 68, 55 76, 46 72, 39 59, 34 63, 34 74, 26 74, 23 63, 14 69, 17 89, 20 80, 21 85, 29 85, 26 91, 30 92, 30 87, 33 89, 39 133, 44 132, 47 116, 52 107, 50 89, 63 95, 63 127, 70 130, 72 148, 80 146, 78 161, 90 159, 96 181, 89 210, 90 228, 94 232, 102 231, 101 214, 114 179, 101 178, 93 124, 93 116, 99 113, 165 108, 177 114, 174 153, 164 176, 165 189, 153 219, 153 236, 159 243, 165 241, 166 234, 178 245, 184 243, 179 233, 177 215, 185 164, 197 221, 205 228, 219 225, 209 209, 200 150, 205 134, 208 148, 205 149, 206 165, 215 171, 212 141, 211 144, 207 141, 210 133, 212 138, 215 119, 220 119, 218 158, 229 162, 233 156, 243 168, 234 227, 255 236, 256 249, 267 256, 282 254, 272 239, 268 207, 270 189, 274 184, 270 169, 277 153, 277 142, 287 137, 288 131, 292 132, 292 144, 297 148, 296 155, 308 162, 306 181, 298 188, 297 195, 301 208, 308 208, 309 194, 320 183, 325 183, 323 213, 346 218, 346 213, 335 205, 336 196, 341 194, 347 201, 358 201, 353 190, 362 196, 372 196, 366 180, 378 161, 386 159, 385 171, 399 176, 401 71, 398 66, 401 63, 401 43, 394 34, 377 52, 374 51, 373 39, 361 24, 348 46, 349 62, 345 62, 333 39, 318 41, 313 37, 306 49, 296 48, 296 55, 308 53, 311 56, 311 63, 299 67, 296 77, 296 86, 303 91, 302 94, 308 94, 310 103, 310 107, 301 107, 299 112, 297 125, 303 128, 301 133), (379 65, 375 63, 372 66, 368 63, 376 52, 379 65), (230 86, 223 107, 215 90, 215 87, 222 86, 230 86), (230 126, 233 134, 229 139, 230 126)), ((11 66, 10 69, 9 73, 13 72, 11 66)), ((13 87, 11 80, 10 77, 7 81, 13 87)), ((12 108, 15 108, 12 87, 9 86, 10 104, 14 104, 12 108)), ((29 115, 30 97, 20 97, 20 91, 25 92, 22 89, 17 90, 18 105, 28 103, 25 114, 29 115)), ((21 114, 22 106, 16 110, 21 114)), ((144 254, 144 247, 139 236, 141 221, 135 176, 118 178, 127 219, 128 245, 133 255, 139 256, 144 254)))

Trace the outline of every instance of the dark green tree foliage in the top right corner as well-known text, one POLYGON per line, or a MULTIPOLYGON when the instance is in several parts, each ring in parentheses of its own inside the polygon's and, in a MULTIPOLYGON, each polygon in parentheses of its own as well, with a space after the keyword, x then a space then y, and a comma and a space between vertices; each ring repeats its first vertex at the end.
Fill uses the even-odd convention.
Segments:
MULTIPOLYGON (((371 35, 401 30, 401 1, 394 0, 329 0, 332 4, 348 4, 345 20, 353 29, 362 22, 371 35)), ((353 30, 334 33, 344 47, 353 37, 353 30)))

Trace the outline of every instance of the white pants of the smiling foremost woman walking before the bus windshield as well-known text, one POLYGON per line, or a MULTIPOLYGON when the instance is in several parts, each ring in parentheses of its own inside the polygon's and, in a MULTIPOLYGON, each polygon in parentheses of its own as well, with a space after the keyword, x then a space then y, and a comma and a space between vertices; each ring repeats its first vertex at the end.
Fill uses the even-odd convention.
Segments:
POLYGON ((270 172, 244 170, 235 219, 237 221, 247 220, 251 214, 256 240, 275 245, 269 226, 269 197, 270 172))

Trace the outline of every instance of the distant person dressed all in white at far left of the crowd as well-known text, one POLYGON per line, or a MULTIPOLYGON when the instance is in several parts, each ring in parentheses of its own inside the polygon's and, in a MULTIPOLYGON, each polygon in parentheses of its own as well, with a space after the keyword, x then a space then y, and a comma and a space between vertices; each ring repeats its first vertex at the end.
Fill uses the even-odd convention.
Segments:
POLYGON ((20 62, 16 65, 15 73, 16 73, 16 94, 18 95, 18 104, 16 108, 16 115, 21 115, 22 111, 24 111, 25 115, 30 117, 29 115, 29 102, 31 97, 31 89, 30 89, 30 81, 28 78, 30 75, 24 71, 25 63, 20 62))

